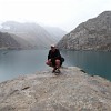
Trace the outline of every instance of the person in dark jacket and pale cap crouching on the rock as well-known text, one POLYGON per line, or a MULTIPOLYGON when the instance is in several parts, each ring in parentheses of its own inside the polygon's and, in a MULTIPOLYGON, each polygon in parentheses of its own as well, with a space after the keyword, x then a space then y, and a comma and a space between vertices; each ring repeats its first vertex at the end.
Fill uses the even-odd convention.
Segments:
POLYGON ((47 64, 53 67, 52 72, 60 73, 60 67, 62 65, 62 59, 59 49, 54 44, 51 44, 51 50, 49 50, 47 64))

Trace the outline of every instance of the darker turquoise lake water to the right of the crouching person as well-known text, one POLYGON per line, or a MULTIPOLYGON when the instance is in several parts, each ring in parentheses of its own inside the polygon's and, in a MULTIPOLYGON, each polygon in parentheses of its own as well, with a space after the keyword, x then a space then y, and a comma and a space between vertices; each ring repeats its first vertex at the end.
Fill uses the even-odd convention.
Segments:
POLYGON ((111 52, 63 51, 67 65, 77 65, 91 75, 111 80, 111 52))

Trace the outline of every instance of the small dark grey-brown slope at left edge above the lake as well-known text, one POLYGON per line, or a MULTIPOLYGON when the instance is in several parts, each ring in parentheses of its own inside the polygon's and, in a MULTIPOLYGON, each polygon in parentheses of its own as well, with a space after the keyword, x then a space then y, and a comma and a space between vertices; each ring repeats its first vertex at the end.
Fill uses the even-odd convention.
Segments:
POLYGON ((23 39, 19 39, 14 34, 10 34, 8 32, 0 32, 0 49, 23 49, 28 47, 27 44, 22 44, 23 39), (17 40, 18 39, 18 40, 17 40))

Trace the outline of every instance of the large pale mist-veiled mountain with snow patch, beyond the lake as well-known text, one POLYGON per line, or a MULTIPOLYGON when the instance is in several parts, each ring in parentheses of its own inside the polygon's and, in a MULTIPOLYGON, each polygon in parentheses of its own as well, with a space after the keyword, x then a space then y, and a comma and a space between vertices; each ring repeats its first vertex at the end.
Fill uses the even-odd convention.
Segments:
POLYGON ((37 23, 29 23, 29 22, 20 23, 20 22, 14 22, 14 21, 3 22, 0 31, 18 36, 19 39, 16 38, 16 40, 21 41, 22 44, 23 44, 23 41, 20 39, 23 39, 24 44, 26 43, 28 44, 28 49, 29 48, 34 48, 34 49, 49 48, 51 43, 57 43, 59 41, 59 39, 57 39, 58 36, 59 38, 63 36, 61 34, 63 33, 63 31, 61 30, 60 30, 61 32, 56 37, 53 33, 52 34, 51 32, 49 33, 43 27, 37 23))

